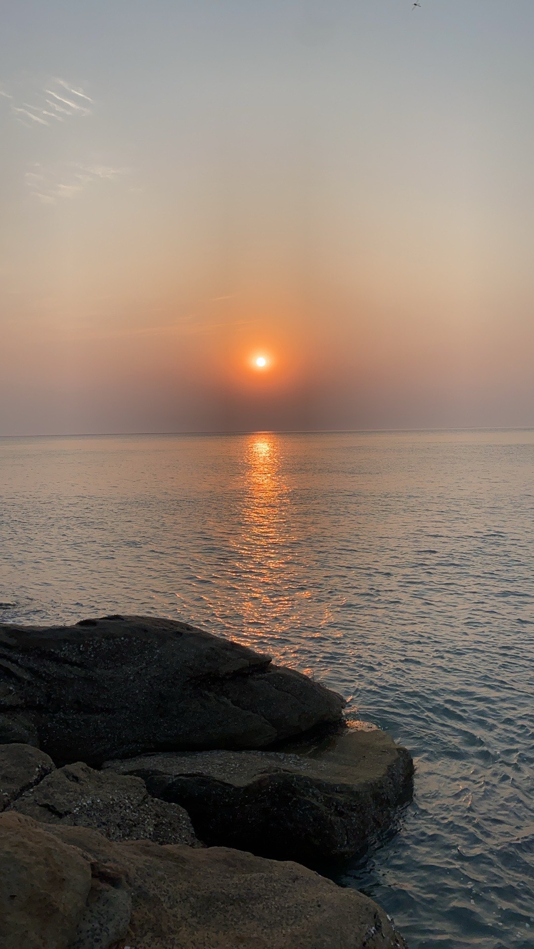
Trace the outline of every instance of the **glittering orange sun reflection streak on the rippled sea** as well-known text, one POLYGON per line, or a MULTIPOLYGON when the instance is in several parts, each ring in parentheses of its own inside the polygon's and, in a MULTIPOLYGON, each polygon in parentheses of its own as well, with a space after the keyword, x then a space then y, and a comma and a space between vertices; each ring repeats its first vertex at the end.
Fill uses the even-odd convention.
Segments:
MULTIPOLYGON (((299 457, 299 456, 297 456, 299 457)), ((190 561, 190 588, 175 592, 181 616, 208 623, 273 658, 314 674, 302 661, 303 641, 323 640, 332 630, 334 589, 316 583, 324 516, 320 505, 302 501, 295 446, 287 437, 256 433, 239 438, 232 490, 218 495, 205 525, 214 569, 205 556, 190 561), (204 621, 205 622, 205 621, 204 621)), ((324 648, 316 662, 325 668, 324 648)), ((324 671, 323 671, 324 675, 324 671)))

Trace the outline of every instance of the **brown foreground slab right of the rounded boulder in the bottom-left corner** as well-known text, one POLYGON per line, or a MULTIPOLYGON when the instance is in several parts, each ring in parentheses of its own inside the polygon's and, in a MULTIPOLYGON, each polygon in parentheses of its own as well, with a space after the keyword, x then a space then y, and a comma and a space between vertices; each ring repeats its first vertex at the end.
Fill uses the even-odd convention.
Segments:
POLYGON ((132 949, 406 949, 376 903, 293 863, 224 847, 110 844, 82 828, 50 831, 124 874, 132 949))

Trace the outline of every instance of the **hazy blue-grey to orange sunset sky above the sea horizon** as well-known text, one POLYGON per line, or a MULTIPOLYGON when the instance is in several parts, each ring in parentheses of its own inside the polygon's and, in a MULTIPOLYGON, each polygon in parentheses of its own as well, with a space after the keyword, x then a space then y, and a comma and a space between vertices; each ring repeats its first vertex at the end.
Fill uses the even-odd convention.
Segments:
POLYGON ((0 435, 534 425, 534 4, 420 2, 7 5, 0 435))

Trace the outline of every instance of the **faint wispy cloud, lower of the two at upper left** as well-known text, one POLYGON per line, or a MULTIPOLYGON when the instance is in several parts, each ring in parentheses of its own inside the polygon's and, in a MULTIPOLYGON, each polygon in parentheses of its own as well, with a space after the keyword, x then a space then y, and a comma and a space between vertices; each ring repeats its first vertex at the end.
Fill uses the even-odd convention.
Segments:
POLYGON ((45 168, 35 162, 29 166, 25 180, 29 193, 42 204, 55 204, 62 198, 81 194, 98 181, 111 181, 127 174, 127 168, 111 165, 61 162, 45 168))

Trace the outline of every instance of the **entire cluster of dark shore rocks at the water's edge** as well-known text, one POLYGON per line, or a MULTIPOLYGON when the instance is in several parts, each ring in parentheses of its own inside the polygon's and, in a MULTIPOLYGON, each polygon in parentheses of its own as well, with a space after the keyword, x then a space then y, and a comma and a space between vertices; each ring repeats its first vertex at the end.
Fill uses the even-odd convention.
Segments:
POLYGON ((5 949, 400 949, 312 867, 410 799, 343 698, 186 623, 0 624, 5 949))

